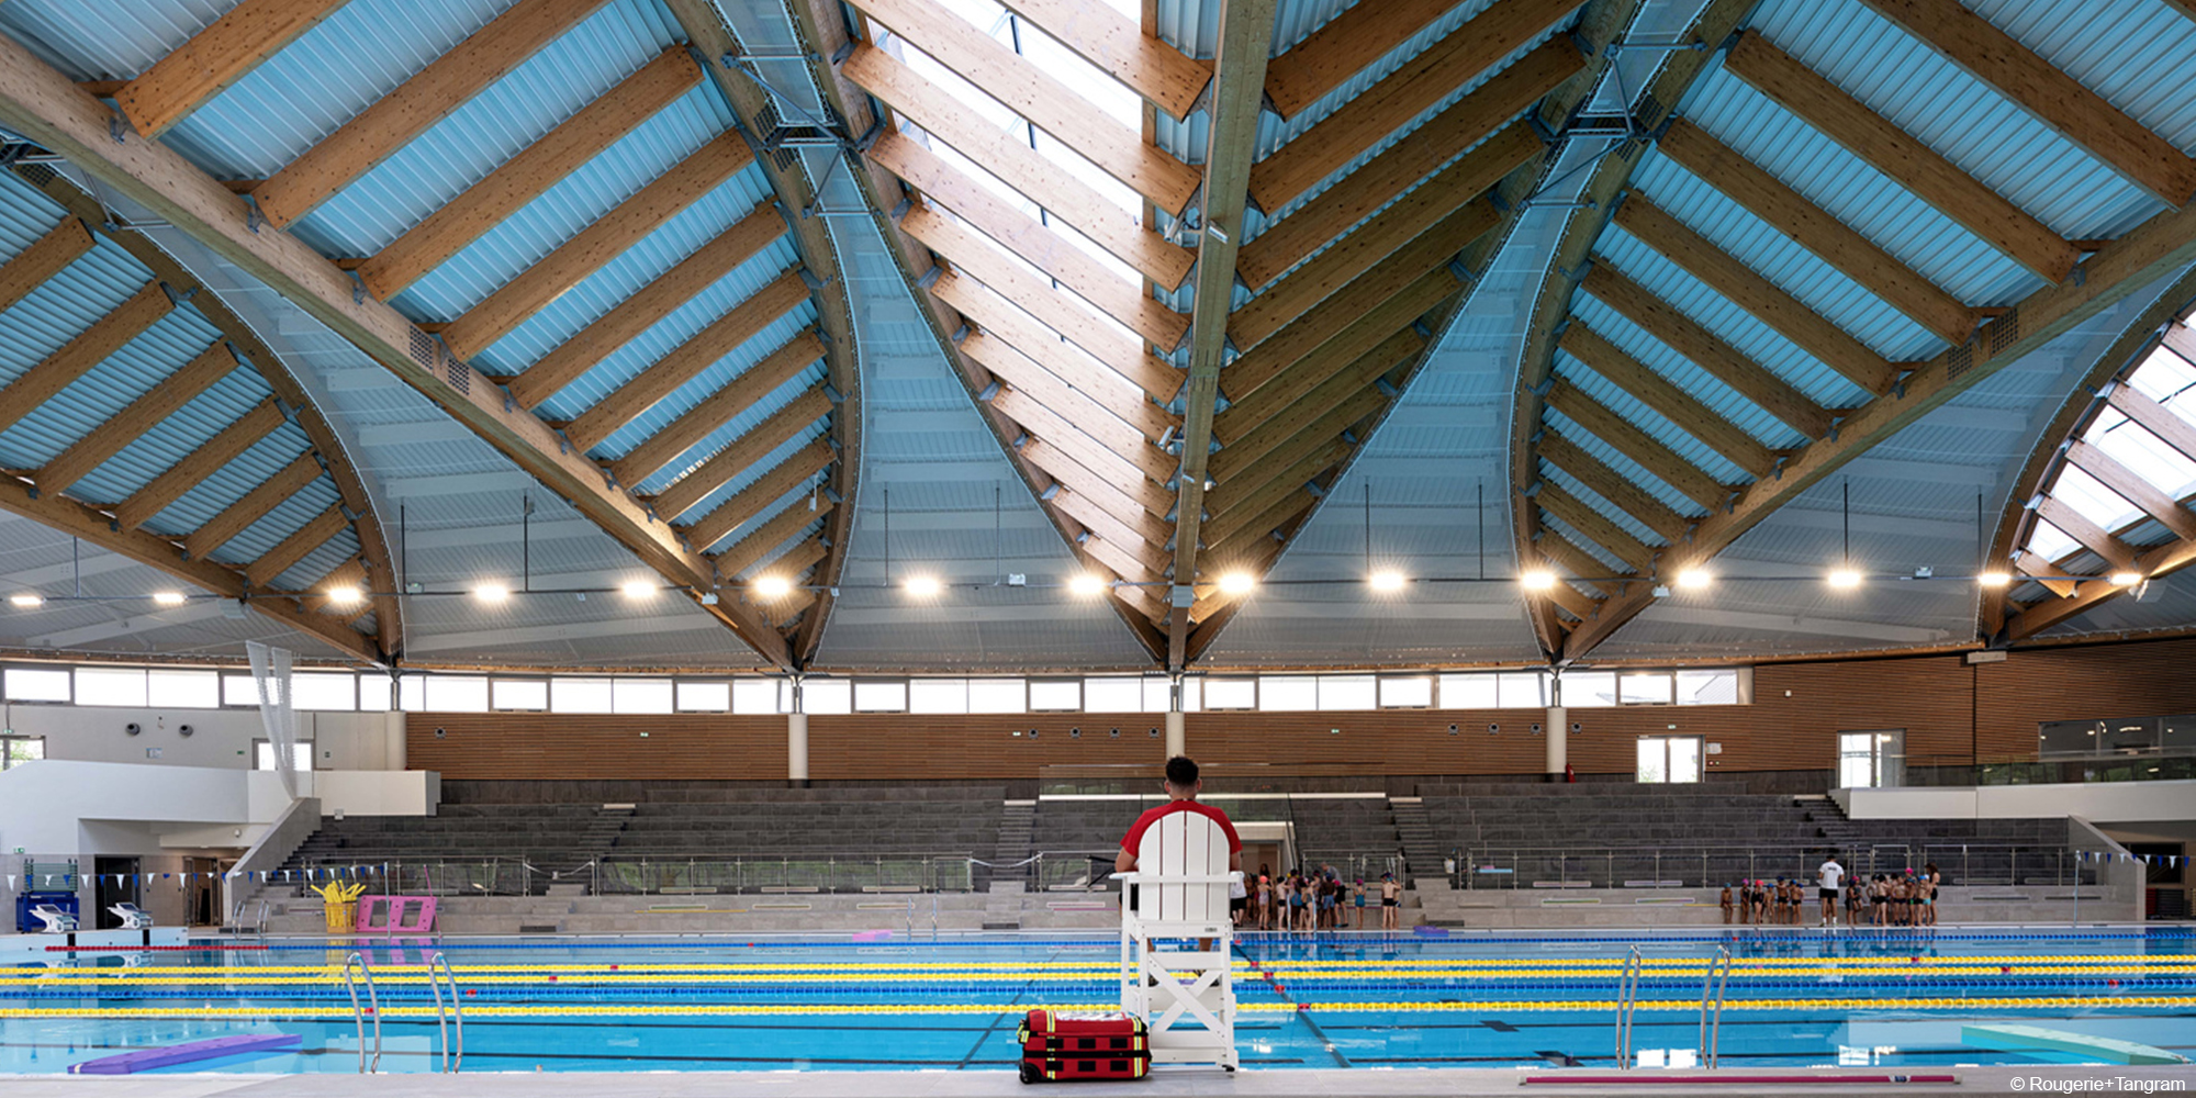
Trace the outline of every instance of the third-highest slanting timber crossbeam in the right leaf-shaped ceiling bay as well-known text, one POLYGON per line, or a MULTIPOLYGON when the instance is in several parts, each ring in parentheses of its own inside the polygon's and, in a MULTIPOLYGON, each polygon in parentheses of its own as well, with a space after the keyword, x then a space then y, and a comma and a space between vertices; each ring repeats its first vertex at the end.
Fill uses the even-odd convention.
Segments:
POLYGON ((1752 211, 1816 259, 1838 268, 1924 332, 1959 347, 1974 334, 1976 314, 1937 283, 1917 274, 1869 237, 1829 215, 1792 187, 1739 156, 1706 130, 1678 119, 1656 143, 1662 156, 1700 176, 1752 211))

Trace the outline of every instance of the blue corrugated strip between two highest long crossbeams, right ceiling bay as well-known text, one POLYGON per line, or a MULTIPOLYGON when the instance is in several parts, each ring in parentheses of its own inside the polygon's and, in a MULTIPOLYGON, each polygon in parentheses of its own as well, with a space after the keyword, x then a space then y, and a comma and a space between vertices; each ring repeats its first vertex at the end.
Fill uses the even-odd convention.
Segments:
MULTIPOLYGON (((2088 0, 2053 4, 2066 13, 2084 7, 2088 0)), ((1752 26, 2062 237, 2115 237, 2165 209, 1864 4, 1770 0, 1752 26)), ((2126 79, 2154 81, 2165 94, 2185 86, 2156 70, 2126 79)))

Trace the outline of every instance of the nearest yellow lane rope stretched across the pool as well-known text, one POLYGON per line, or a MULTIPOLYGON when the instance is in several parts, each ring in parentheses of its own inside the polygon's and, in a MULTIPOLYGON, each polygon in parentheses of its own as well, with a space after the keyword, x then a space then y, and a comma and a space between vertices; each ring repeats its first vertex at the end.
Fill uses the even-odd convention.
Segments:
MULTIPOLYGON (((784 1015, 1019 1015, 1045 1004, 573 1004, 573 1006, 468 1006, 468 1019, 534 1019, 534 1017, 784 1017, 784 1015)), ((2038 1010, 2097 1006, 2196 1006, 2196 995, 2126 995, 2108 1004, 2099 999, 2038 997, 1884 997, 1884 999, 1733 999, 1730 1012, 1744 1010, 2038 1010)), ((1050 1004, 1047 1010, 1116 1010, 1116 1004, 1050 1004)), ((1489 999, 1469 1004, 1311 1004, 1315 1012, 1610 1012, 1612 999, 1489 999)), ((1636 1010, 1700 1010, 1700 999, 1640 999, 1636 1010)), ((1241 1004, 1236 1010, 1258 1015, 1293 1015, 1296 1004, 1241 1004)), ((0 1019, 257 1019, 257 1021, 349 1021, 351 1010, 334 1008, 0 1008, 0 1019)), ((433 1019, 433 1006, 384 1006, 384 1019, 433 1019)))

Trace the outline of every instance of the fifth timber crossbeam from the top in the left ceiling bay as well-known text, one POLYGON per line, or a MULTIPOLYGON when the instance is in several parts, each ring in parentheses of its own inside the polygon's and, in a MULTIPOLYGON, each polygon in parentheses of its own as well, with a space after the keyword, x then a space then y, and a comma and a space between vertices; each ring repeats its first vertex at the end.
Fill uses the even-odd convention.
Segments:
POLYGON ((747 217, 733 222, 731 228, 712 237, 709 244, 694 248, 676 266, 657 274, 654 281, 635 290, 632 296, 619 301, 610 312, 512 378, 512 400, 525 408, 549 400, 613 351, 639 338, 641 332, 661 323, 679 305, 694 301, 696 294, 725 274, 731 274, 733 268, 762 255, 762 248, 769 248, 784 231, 786 222, 777 206, 771 202, 758 204, 747 217))

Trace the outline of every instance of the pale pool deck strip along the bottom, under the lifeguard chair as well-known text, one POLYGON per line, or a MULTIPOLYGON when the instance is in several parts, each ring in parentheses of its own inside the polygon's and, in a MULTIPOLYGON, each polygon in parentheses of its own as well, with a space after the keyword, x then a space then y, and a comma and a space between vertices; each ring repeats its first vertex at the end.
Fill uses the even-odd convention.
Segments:
MULTIPOLYGON (((1610 1078, 1616 1072, 1495 1072, 1495 1069, 1412 1069, 1412 1072, 1173 1072, 1144 1083, 1076 1083, 1056 1094, 1089 1098, 1109 1096, 1212 1096, 1243 1098, 1432 1098, 1458 1094, 2016 1094, 2042 1089, 2066 1094, 2064 1080, 2088 1080, 2088 1089, 2141 1094, 2143 1080, 2154 1089, 2187 1091, 2196 1087, 2196 1067, 2119 1067, 2119 1065, 2031 1065, 2031 1067, 1856 1067, 1856 1069, 1744 1069, 1722 1072, 1629 1072, 1623 1080, 1526 1085, 1526 1076, 1610 1078), (1957 1083, 1845 1083, 1840 1076, 1891 1078, 1900 1074, 1957 1076, 1957 1083), (1763 1076, 1812 1076, 1807 1083, 1759 1083, 1763 1076), (2031 1080, 2060 1083, 2036 1087, 2031 1080), (1647 1085, 1647 1083, 1654 1085, 1647 1085), (2128 1083, 2119 1083, 2128 1080, 2128 1083), (2102 1085, 2099 1085, 2102 1083, 2102 1085), (2132 1085, 2130 1085, 2132 1083, 2132 1085)), ((393 1074, 393 1076, 0 1076, 9 1098, 272 1098, 312 1094, 314 1098, 687 1098, 740 1094, 762 1098, 1006 1098, 1039 1089, 1021 1085, 1012 1072, 635 1072, 635 1074, 393 1074)), ((1054 1094, 1054 1091, 1045 1091, 1054 1094)))

